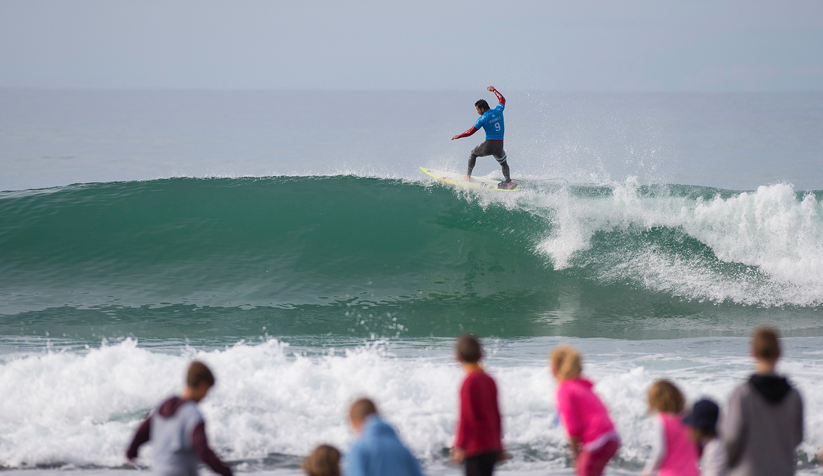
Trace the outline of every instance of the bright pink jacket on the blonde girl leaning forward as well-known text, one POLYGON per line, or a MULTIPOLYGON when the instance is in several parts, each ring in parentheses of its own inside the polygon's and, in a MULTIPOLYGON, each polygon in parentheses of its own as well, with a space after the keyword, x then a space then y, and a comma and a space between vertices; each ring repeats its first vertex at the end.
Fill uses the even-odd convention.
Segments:
POLYGON ((594 384, 584 378, 561 381, 557 385, 557 413, 570 437, 584 444, 614 432, 609 412, 592 391, 594 384))

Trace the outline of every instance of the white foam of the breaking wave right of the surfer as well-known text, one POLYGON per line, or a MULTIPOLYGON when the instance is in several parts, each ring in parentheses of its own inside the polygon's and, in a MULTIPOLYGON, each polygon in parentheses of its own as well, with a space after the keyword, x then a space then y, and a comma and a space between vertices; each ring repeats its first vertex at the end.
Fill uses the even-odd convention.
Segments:
POLYGON ((567 189, 553 192, 537 202, 545 206, 555 201, 557 210, 555 226, 538 243, 537 251, 549 256, 557 270, 593 266, 605 284, 632 282, 715 303, 811 307, 823 303, 823 201, 811 193, 798 197, 786 184, 725 198, 718 193, 709 199, 661 188, 648 192, 628 180, 613 185, 606 198, 574 196, 567 189), (694 238, 713 256, 679 254, 648 240, 584 253, 598 233, 640 237, 658 228, 694 238), (718 261, 745 267, 723 268, 718 261))

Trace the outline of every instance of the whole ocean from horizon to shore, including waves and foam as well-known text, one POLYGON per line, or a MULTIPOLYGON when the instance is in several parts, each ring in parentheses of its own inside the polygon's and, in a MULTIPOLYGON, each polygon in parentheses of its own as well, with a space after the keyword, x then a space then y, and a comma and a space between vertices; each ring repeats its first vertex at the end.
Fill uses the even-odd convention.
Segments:
MULTIPOLYGON (((823 445, 823 95, 508 93, 523 192, 461 192, 480 95, 0 90, 0 468, 134 474, 123 451, 191 358, 241 474, 299 474, 370 395, 430 474, 484 337, 508 474, 571 474, 546 354, 568 342, 651 444, 672 378, 725 401, 779 327, 823 445)), ((491 159, 476 173, 497 177, 491 159)), ((150 461, 151 446, 139 464, 150 461)))

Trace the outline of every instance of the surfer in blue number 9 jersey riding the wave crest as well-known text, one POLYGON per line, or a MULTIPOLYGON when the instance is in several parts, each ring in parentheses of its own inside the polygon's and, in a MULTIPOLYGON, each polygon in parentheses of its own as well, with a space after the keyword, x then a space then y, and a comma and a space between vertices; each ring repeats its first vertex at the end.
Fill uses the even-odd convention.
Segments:
POLYGON ((480 114, 480 118, 477 119, 477 122, 475 122, 474 126, 472 126, 469 130, 463 132, 463 134, 453 136, 452 141, 461 137, 471 136, 483 127, 486 131, 486 141, 483 141, 480 146, 472 149, 472 155, 468 158, 468 172, 466 173, 466 181, 468 182, 472 180, 472 169, 474 169, 474 164, 477 162, 477 157, 494 155, 497 163, 500 164, 500 168, 503 169, 503 177, 505 178, 505 180, 500 182, 497 187, 514 188, 517 187, 517 183, 512 182, 512 179, 509 176, 509 164, 506 163, 506 151, 503 150, 503 109, 506 106, 506 99, 500 94, 500 91, 495 90, 495 86, 489 86, 486 90, 490 90, 495 93, 499 104, 495 106, 495 109, 491 109, 489 108, 489 103, 486 102, 486 99, 480 99, 477 101, 477 103, 474 104, 474 107, 477 109, 477 113, 480 114))

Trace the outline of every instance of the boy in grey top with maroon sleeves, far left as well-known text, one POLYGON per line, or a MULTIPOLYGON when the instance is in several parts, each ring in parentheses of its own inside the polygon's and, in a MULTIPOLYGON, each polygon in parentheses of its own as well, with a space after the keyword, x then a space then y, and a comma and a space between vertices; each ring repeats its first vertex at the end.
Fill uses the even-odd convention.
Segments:
POLYGON ((198 462, 202 461, 215 473, 231 476, 231 469, 208 446, 206 423, 198 409, 198 403, 206 398, 214 381, 212 371, 205 364, 191 363, 183 395, 165 400, 137 428, 126 451, 128 460, 137 458, 140 446, 151 440, 153 474, 197 476, 198 462))

